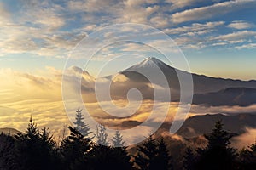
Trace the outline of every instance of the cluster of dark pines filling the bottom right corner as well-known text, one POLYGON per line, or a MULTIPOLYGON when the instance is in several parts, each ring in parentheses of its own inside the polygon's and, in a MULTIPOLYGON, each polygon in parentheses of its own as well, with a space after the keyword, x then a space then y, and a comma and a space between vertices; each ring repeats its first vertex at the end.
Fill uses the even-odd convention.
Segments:
POLYGON ((205 134, 207 147, 188 148, 183 156, 183 167, 187 170, 255 170, 256 143, 237 151, 230 147, 232 134, 224 130, 220 120, 215 122, 212 133, 205 134))

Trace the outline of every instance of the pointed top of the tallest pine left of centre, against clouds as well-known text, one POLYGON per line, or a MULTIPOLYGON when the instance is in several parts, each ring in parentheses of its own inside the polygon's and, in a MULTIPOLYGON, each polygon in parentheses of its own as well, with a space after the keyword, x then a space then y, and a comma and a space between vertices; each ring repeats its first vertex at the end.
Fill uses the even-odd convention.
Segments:
POLYGON ((79 133, 83 134, 84 137, 88 137, 90 132, 90 127, 88 124, 84 123, 84 116, 82 114, 82 110, 78 109, 76 111, 76 122, 73 122, 76 126, 75 128, 79 131, 79 133))

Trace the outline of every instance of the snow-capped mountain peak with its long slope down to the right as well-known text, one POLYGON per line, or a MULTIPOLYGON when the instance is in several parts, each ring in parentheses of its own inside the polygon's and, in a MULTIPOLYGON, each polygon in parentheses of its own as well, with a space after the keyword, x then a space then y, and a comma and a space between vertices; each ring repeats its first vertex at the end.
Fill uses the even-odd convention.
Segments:
MULTIPOLYGON (((176 101, 179 99, 179 89, 180 84, 177 77, 178 75, 187 77, 189 72, 180 71, 178 69, 173 68, 170 65, 166 65, 160 59, 155 58, 147 58, 137 65, 133 65, 125 71, 120 71, 119 74, 125 75, 125 77, 129 78, 133 82, 140 82, 142 84, 147 84, 149 81, 145 75, 151 75, 153 82, 156 82, 157 85, 163 86, 163 77, 159 76, 158 71, 162 71, 164 76, 166 77, 166 81, 169 83, 169 88, 172 93, 172 100, 176 101), (141 74, 141 73, 143 74, 141 74)), ((224 79, 224 78, 216 78, 216 77, 207 77, 204 75, 197 75, 192 73, 193 83, 194 83, 194 94, 206 94, 218 92, 220 90, 226 88, 256 88, 256 81, 241 81, 241 80, 232 80, 232 79, 224 79)), ((151 79, 151 80, 152 80, 151 79)), ((150 80, 150 81, 151 81, 150 80)), ((134 85, 134 84, 132 84, 134 85)), ((134 88, 127 84, 126 88, 134 88)), ((143 91, 148 90, 148 92, 144 92, 143 94, 147 94, 147 99, 153 99, 154 96, 148 95, 153 94, 153 91, 147 89, 147 86, 143 87, 143 91)), ((152 89, 151 89, 152 90, 152 89)))

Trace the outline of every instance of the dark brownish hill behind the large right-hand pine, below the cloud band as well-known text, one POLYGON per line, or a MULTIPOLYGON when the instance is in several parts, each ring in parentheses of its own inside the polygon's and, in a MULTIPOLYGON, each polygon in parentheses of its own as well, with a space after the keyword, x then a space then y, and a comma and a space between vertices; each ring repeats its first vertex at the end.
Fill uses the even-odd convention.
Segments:
POLYGON ((241 134, 245 132, 245 127, 256 128, 256 115, 249 113, 234 116, 216 114, 189 117, 177 131, 177 134, 185 138, 194 138, 201 134, 210 133, 218 119, 222 120, 224 129, 230 133, 241 134))

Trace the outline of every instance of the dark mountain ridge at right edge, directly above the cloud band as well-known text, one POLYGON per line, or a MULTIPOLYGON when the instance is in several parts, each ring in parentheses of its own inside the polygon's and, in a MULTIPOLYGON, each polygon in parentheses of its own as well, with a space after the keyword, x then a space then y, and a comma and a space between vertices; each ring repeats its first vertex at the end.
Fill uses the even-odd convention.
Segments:
POLYGON ((226 88, 218 92, 195 94, 193 104, 240 105, 248 106, 256 103, 256 88, 226 88))

